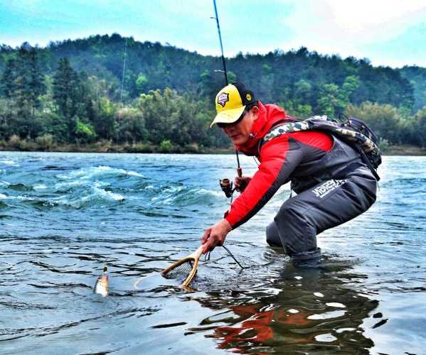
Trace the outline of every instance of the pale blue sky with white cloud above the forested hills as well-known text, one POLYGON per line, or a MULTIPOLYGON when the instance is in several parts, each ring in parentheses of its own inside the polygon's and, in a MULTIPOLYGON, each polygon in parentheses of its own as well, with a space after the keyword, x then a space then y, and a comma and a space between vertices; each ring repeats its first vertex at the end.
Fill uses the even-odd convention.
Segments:
MULTIPOLYGON (((307 47, 426 67, 426 0, 216 0, 226 57, 307 47)), ((220 55, 213 0, 0 0, 0 43, 119 33, 220 55)))

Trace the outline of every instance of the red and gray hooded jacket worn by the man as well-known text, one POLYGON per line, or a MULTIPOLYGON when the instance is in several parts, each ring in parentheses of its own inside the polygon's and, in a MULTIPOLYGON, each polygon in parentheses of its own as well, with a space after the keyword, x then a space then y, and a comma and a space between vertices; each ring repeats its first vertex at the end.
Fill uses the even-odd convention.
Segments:
MULTIPOLYGON (((283 134, 267 141, 259 148, 262 138, 273 126, 277 126, 280 121, 292 118, 286 116, 284 110, 276 105, 263 105, 258 102, 258 106, 259 116, 253 123, 251 138, 244 146, 235 147, 245 155, 257 156, 260 165, 244 192, 225 213, 225 219, 233 228, 247 222, 255 215, 281 185, 292 178, 303 180, 306 168, 315 170, 318 165, 316 163, 324 158, 334 145, 334 138, 327 133, 300 131, 283 134)), ((316 170, 321 169, 320 166, 316 170)))

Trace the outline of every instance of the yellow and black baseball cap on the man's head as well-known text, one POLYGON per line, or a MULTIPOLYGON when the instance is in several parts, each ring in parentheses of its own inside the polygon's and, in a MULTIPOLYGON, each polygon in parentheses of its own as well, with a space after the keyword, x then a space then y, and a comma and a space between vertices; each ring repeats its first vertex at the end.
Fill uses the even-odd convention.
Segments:
POLYGON ((232 124, 240 118, 247 104, 255 102, 255 95, 245 89, 243 84, 236 82, 226 85, 216 95, 217 115, 210 126, 213 127, 213 124, 232 124))

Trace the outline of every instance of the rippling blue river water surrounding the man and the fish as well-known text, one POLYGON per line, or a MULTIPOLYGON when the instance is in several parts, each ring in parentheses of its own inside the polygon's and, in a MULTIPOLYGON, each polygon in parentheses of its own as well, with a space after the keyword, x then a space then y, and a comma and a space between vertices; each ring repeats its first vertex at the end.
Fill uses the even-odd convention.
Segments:
POLYGON ((0 354, 425 354, 426 157, 385 157, 378 202, 319 236, 321 268, 265 242, 284 186, 228 235, 251 267, 216 248, 182 290, 159 271, 222 217, 234 174, 233 155, 1 152, 0 354))

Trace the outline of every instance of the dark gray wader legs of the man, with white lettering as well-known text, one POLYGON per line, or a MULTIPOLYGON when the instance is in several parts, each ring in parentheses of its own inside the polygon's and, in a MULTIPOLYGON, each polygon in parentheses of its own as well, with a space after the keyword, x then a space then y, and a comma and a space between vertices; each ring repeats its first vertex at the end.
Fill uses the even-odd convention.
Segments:
POLYGON ((282 204, 267 226, 267 243, 284 248, 294 266, 318 266, 316 234, 365 212, 376 201, 376 188, 376 179, 363 167, 344 179, 319 182, 282 204))

